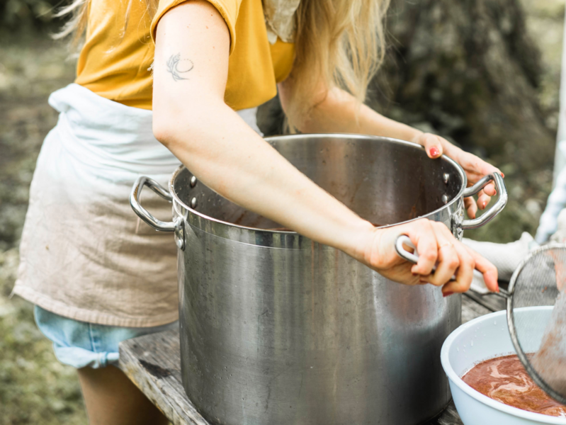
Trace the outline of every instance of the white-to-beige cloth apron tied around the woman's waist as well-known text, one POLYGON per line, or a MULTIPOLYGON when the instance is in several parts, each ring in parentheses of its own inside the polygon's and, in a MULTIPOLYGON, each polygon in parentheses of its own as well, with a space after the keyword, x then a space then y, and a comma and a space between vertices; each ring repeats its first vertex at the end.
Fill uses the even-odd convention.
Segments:
MULTIPOLYGON (((166 187, 180 165, 153 137, 152 112, 77 84, 52 94, 50 105, 60 118, 45 138, 33 175, 13 293, 84 322, 120 327, 174 322, 179 314, 173 234, 141 222, 128 201, 137 176, 166 187)), ((240 115, 251 120, 252 112, 240 115)), ((171 204, 147 189, 142 198, 157 218, 171 221, 171 204)))

